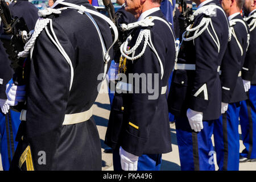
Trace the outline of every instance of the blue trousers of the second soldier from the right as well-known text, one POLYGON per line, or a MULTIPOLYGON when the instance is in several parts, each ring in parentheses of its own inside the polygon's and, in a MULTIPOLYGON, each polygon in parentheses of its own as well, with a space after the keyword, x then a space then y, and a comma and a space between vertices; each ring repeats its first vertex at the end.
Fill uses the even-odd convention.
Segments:
POLYGON ((239 170, 239 113, 241 102, 229 104, 226 113, 214 121, 214 144, 219 170, 239 170))

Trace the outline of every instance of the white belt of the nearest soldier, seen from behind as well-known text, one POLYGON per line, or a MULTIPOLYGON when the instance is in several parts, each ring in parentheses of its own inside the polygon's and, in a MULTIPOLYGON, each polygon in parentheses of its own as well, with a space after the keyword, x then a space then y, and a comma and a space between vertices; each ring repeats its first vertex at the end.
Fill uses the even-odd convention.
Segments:
MULTIPOLYGON (((27 110, 22 110, 20 112, 20 121, 26 121, 26 115, 27 115, 27 110)), ((81 123, 84 121, 88 121, 90 117, 93 115, 93 110, 92 107, 90 107, 89 110, 86 110, 81 113, 75 113, 75 114, 65 114, 64 121, 62 125, 73 125, 76 123, 81 123)))

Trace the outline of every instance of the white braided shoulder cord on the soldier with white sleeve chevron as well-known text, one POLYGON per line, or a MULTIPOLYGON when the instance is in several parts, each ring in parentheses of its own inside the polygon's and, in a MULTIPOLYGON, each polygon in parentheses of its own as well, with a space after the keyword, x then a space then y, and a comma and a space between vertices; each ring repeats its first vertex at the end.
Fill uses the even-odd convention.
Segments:
MULTIPOLYGON (((193 20, 193 19, 195 18, 195 16, 197 16, 197 15, 199 15, 199 14, 201 14, 201 13, 204 13, 205 15, 208 15, 208 16, 214 16, 214 15, 216 15, 216 11, 214 11, 214 10, 216 10, 216 9, 221 10, 222 13, 225 15, 224 10, 222 10, 221 7, 219 7, 219 6, 217 6, 217 5, 207 5, 207 6, 203 6, 203 7, 201 7, 200 9, 196 10, 195 13, 193 13, 193 15, 191 16, 191 20, 193 20)), ((225 17, 226 17, 226 15, 225 15, 225 17)), ((229 24, 227 18, 226 18, 226 21, 227 21, 227 23, 229 24)), ((211 18, 205 18, 205 17, 204 17, 204 18, 201 20, 201 22, 199 23, 198 26, 196 26, 195 28, 191 28, 191 27, 192 27, 192 25, 189 25, 189 26, 186 28, 186 31, 183 33, 183 35, 182 35, 182 40, 183 40, 183 41, 191 41, 191 40, 193 40, 193 43, 195 44, 195 39, 196 39, 197 37, 199 37, 201 34, 203 34, 203 32, 204 32, 205 30, 207 30, 208 33, 210 34, 211 38, 213 39, 214 43, 216 44, 216 46, 217 46, 217 48, 218 48, 218 52, 220 52, 220 41, 218 40, 218 36, 217 36, 216 31, 215 31, 215 29, 214 29, 214 27, 213 27, 212 19, 211 19, 211 18), (216 37, 217 40, 214 39, 214 38, 213 38, 213 35, 210 33, 209 28, 208 28, 209 24, 210 24, 210 26, 212 27, 214 36, 216 37), (203 27, 203 26, 204 26, 204 27, 203 27), (203 28, 200 30, 201 27, 203 27, 203 28), (200 31, 199 31, 199 30, 200 30, 200 31), (191 36, 191 37, 189 37, 189 38, 185 38, 185 35, 187 34, 187 32, 193 32, 193 31, 195 31, 195 33, 193 34, 193 36, 191 36)), ((231 39, 231 31, 230 31, 230 28, 229 28, 229 41, 230 41, 230 39, 231 39)))

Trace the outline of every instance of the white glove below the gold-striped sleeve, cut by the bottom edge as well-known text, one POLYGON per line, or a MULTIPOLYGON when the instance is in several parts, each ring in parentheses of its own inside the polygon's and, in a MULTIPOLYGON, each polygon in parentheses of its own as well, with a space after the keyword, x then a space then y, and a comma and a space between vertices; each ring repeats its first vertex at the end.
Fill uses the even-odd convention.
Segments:
POLYGON ((133 155, 119 148, 119 155, 121 158, 121 166, 125 171, 137 171, 139 156, 133 155))

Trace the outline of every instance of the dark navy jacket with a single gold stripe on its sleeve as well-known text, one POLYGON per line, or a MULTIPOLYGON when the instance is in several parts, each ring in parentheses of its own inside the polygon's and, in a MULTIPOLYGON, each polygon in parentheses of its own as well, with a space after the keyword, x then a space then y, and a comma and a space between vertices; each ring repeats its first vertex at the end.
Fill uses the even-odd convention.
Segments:
MULTIPOLYGON (((155 11, 150 16, 159 16, 165 19, 160 10, 155 11)), ((167 85, 174 67, 174 35, 164 22, 154 20, 154 23, 155 25, 150 28, 151 39, 163 63, 163 79, 160 80, 159 61, 148 46, 142 57, 134 61, 127 60, 125 74, 129 80, 129 73, 138 73, 139 75, 152 73, 153 85, 154 81, 159 82, 159 88, 156 88, 159 96, 155 100, 148 100, 148 96, 152 95, 148 92, 115 93, 105 138, 105 143, 108 146, 116 150, 122 146, 124 150, 137 156, 163 154, 171 151, 167 100, 166 94, 161 94, 161 89, 162 86, 167 85), (158 74, 159 77, 154 79, 154 73, 158 74)), ((134 41, 140 30, 141 27, 134 29, 131 34, 133 39, 128 46, 134 46, 134 41)), ((143 44, 141 43, 135 51, 135 55, 141 52, 142 47, 143 44)), ((139 90, 142 90, 142 81, 139 81, 139 90)))

